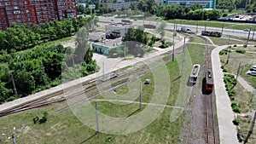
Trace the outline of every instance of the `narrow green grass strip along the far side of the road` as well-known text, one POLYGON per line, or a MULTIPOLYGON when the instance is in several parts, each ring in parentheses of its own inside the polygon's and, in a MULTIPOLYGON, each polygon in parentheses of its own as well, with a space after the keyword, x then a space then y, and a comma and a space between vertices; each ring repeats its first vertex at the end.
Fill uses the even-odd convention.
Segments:
POLYGON ((220 21, 207 21, 207 20, 167 20, 170 23, 176 23, 177 25, 197 25, 198 26, 211 26, 211 27, 219 27, 219 31, 221 31, 221 27, 230 28, 230 29, 238 29, 243 30, 247 28, 253 28, 253 24, 237 24, 232 22, 220 22, 220 21))

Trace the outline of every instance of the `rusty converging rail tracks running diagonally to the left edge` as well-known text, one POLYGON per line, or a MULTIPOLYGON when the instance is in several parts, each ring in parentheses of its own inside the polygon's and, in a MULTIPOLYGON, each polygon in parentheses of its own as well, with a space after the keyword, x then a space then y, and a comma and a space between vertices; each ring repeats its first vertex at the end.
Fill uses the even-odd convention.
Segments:
MULTIPOLYGON (((176 50, 176 55, 180 54, 182 52, 181 49, 176 50)), ((165 54, 160 55, 162 60, 165 61, 165 63, 168 63, 172 60, 171 52, 166 52, 165 54)), ((154 62, 154 59, 151 60, 154 62)), ((157 70, 159 67, 155 66, 155 68, 150 67, 148 69, 148 66, 143 66, 143 62, 137 63, 136 65, 125 69, 125 70, 117 70, 116 72, 110 72, 106 74, 105 76, 102 76, 100 78, 94 78, 90 81, 86 81, 82 84, 73 85, 71 87, 68 87, 65 89, 65 91, 75 91, 78 86, 83 86, 83 91, 79 91, 77 93, 73 93, 72 95, 66 95, 64 96, 63 89, 49 95, 45 95, 43 97, 40 97, 33 101, 26 101, 23 104, 20 104, 17 107, 12 107, 10 109, 7 109, 3 112, 0 112, 0 118, 3 116, 7 116, 9 114, 13 114, 16 112, 22 112, 26 111, 32 108, 37 107, 45 107, 50 104, 54 104, 61 101, 66 101, 67 99, 72 99, 76 96, 82 95, 84 93, 89 94, 86 98, 83 100, 77 101, 73 103, 73 106, 68 107, 62 107, 58 112, 64 112, 67 111, 70 107, 76 107, 79 104, 83 103, 84 101, 90 101, 91 99, 95 98, 96 96, 100 95, 97 88, 102 87, 102 89, 112 89, 113 87, 117 87, 119 84, 122 84, 124 82, 127 82, 129 78, 141 78, 144 75, 157 70), (109 85, 109 81, 111 81, 111 85, 109 85), (60 96, 62 95, 62 96, 60 96)), ((79 87, 80 88, 80 87, 79 87)))

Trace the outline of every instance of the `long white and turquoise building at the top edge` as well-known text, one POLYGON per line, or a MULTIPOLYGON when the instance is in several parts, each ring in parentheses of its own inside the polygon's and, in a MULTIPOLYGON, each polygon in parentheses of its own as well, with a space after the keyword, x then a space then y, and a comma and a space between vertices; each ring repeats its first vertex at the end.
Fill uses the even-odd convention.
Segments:
MULTIPOLYGON (((159 0, 155 0, 156 3, 159 3, 159 0)), ((192 6, 195 3, 199 3, 204 9, 215 9, 216 0, 162 0, 163 5, 184 5, 192 6)))

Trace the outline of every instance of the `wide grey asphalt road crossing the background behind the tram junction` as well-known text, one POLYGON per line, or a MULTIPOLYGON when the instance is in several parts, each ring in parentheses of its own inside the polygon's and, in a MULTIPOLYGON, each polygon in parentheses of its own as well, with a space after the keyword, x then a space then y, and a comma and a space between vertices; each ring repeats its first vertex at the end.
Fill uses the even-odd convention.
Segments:
MULTIPOLYGON (((111 16, 111 17, 99 16, 99 20, 100 22, 111 23, 111 22, 120 22, 122 19, 115 18, 114 16, 111 16)), ((159 21, 148 21, 148 20, 132 20, 132 21, 135 26, 143 26, 143 24, 153 24, 156 26, 160 26, 159 21)), ((192 32, 196 32, 196 26, 193 26, 193 25, 177 24, 176 29, 179 30, 182 26, 186 26, 187 28, 191 29, 192 32)), ((167 23, 166 29, 173 30, 173 28, 174 28, 174 24, 167 23)), ((221 32, 221 27, 210 27, 210 26, 197 27, 198 32, 201 32, 204 30, 221 32)), ((224 28, 223 34, 236 36, 236 37, 248 37, 248 32, 244 32, 243 30, 229 29, 229 28, 224 28)), ((250 37, 253 37, 253 32, 251 32, 250 37)), ((254 37, 254 39, 256 39, 256 36, 254 37)))

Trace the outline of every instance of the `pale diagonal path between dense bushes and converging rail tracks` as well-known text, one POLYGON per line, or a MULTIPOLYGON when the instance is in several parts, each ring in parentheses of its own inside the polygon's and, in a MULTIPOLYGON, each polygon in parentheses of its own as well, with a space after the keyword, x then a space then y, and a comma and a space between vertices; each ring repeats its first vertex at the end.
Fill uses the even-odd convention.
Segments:
MULTIPOLYGON (((183 45, 183 41, 180 41, 179 43, 176 43, 174 45, 174 48, 177 49, 177 48, 181 47, 182 45, 183 45)), ((108 72, 113 72, 113 71, 119 70, 119 68, 123 68, 125 66, 132 66, 132 65, 136 64, 137 62, 140 62, 143 60, 150 60, 150 58, 153 58, 154 56, 157 56, 157 55, 164 54, 168 51, 172 51, 172 47, 162 49, 159 51, 155 51, 153 53, 145 55, 143 58, 135 58, 135 59, 131 59, 131 60, 123 60, 120 58, 108 59, 107 56, 105 56, 105 55, 98 55, 99 57, 97 57, 97 58, 94 56, 93 59, 96 59, 97 65, 101 67, 99 72, 90 74, 89 76, 86 76, 84 78, 79 78, 79 79, 73 80, 66 84, 60 84, 53 88, 45 89, 36 94, 28 95, 26 97, 17 99, 15 101, 9 101, 9 102, 3 103, 2 105, 0 105, 0 112, 3 112, 4 110, 10 109, 12 107, 18 107, 21 104, 27 103, 29 101, 34 101, 40 97, 44 97, 46 95, 51 95, 52 93, 61 91, 63 89, 67 89, 68 87, 71 87, 71 86, 75 86, 75 85, 79 86, 80 84, 82 84, 85 81, 89 81, 89 80, 92 80, 93 78, 98 78, 98 77, 103 76, 104 73, 106 74, 108 72), (102 67, 104 67, 104 68, 102 68, 102 67)), ((97 55, 97 54, 94 54, 94 55, 97 55)))

